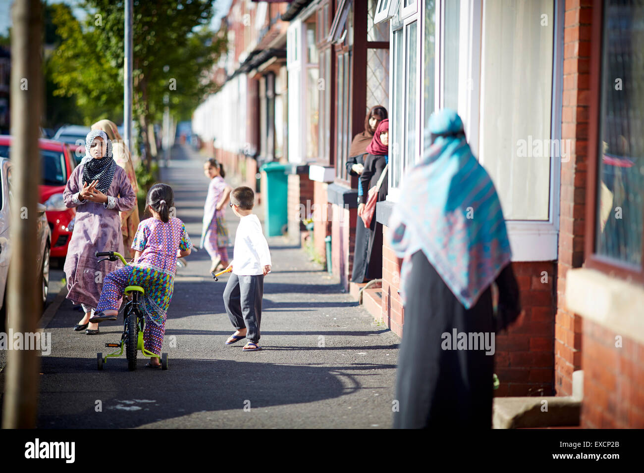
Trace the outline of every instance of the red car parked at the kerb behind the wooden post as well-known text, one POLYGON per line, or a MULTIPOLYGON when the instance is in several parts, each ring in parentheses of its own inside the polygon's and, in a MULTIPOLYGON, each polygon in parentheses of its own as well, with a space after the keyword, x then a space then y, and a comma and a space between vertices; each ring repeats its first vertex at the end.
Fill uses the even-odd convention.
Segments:
MULTIPOLYGON (((62 199, 67 180, 77 166, 74 153, 68 144, 38 140, 41 150, 40 202, 46 207, 47 221, 52 229, 51 257, 64 258, 71 239, 75 209, 68 209, 62 199)), ((11 136, 0 135, 0 156, 10 158, 11 136)))

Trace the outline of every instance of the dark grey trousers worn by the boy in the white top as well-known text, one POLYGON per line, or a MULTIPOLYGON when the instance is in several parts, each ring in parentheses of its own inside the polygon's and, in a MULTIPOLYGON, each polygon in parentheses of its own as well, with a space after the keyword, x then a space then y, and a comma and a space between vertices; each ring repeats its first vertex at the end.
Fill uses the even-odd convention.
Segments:
POLYGON ((264 293, 264 275, 238 276, 234 273, 223 290, 223 306, 236 329, 247 328, 246 338, 260 341, 261 298, 264 293))

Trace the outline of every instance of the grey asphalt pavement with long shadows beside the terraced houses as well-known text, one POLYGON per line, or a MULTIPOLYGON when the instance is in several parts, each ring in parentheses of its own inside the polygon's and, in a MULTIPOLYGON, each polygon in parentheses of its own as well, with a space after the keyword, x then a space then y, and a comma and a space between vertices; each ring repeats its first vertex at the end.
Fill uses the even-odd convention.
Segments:
MULTIPOLYGON (((173 148, 162 180, 175 190, 177 216, 198 245, 208 180, 204 157, 173 148)), ((227 179, 231 185, 234 181, 227 179)), ((256 209, 260 219, 263 212, 256 209)), ((227 208, 229 232, 238 219, 227 208)), ((122 316, 100 335, 72 331, 70 301, 45 320, 52 353, 41 357, 38 427, 76 428, 389 428, 399 337, 344 293, 304 250, 269 238, 260 345, 225 346, 234 331, 223 308, 227 276, 214 282, 205 251, 178 268, 166 323, 167 371, 130 372, 124 356, 97 370, 97 352, 118 342, 122 316)), ((229 250, 232 257, 232 248, 229 250)), ((4 389, 5 372, 0 373, 4 389)))

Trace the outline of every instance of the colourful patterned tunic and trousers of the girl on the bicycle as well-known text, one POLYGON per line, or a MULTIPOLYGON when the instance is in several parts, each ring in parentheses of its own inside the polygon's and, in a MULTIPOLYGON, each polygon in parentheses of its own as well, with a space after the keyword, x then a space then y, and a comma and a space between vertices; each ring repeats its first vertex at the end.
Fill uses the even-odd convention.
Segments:
POLYGON ((167 309, 172 299, 176 271, 176 252, 192 247, 184 223, 171 218, 164 223, 148 218, 138 224, 132 249, 141 254, 137 263, 128 264, 105 277, 97 311, 118 310, 118 300, 127 286, 141 286, 146 311, 144 346, 161 353, 166 333, 167 309))

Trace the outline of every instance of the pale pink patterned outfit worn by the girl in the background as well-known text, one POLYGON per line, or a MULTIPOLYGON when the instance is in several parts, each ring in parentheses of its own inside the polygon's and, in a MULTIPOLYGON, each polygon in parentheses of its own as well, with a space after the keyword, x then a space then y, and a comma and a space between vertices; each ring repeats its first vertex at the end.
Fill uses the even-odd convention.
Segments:
POLYGON ((228 229, 223 219, 223 209, 217 210, 217 203, 222 198, 227 184, 222 176, 215 176, 208 186, 208 195, 204 205, 204 227, 200 246, 210 255, 211 261, 221 258, 222 263, 228 261, 229 245, 228 229))

